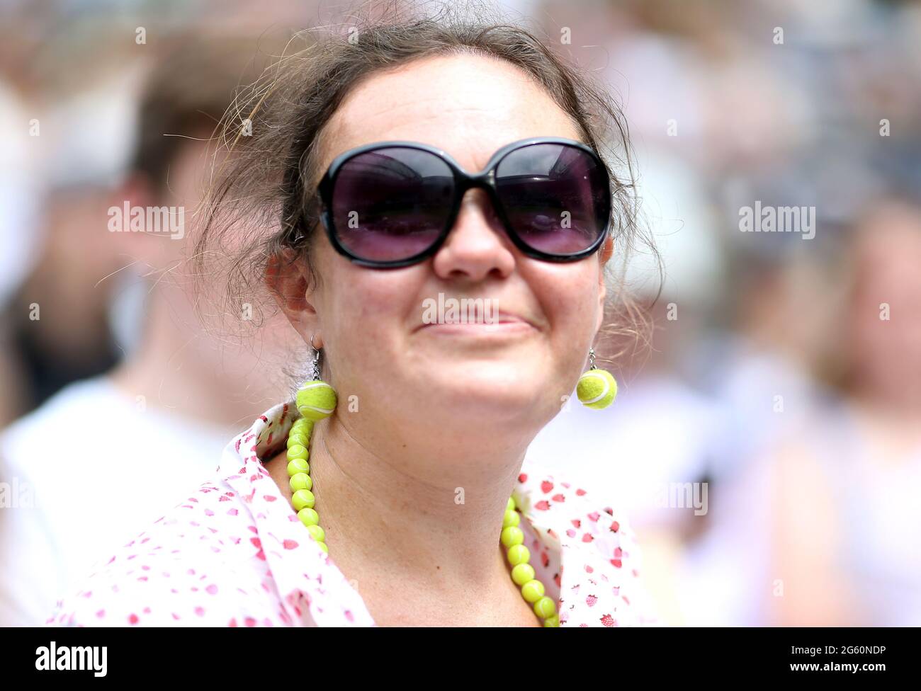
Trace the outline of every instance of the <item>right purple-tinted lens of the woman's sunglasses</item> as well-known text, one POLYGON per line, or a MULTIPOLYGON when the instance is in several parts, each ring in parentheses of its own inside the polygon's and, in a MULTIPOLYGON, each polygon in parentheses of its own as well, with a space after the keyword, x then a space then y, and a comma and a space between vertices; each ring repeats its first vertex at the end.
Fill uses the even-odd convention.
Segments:
POLYGON ((509 224, 538 251, 578 254, 607 228, 607 173, 576 146, 530 144, 512 151, 496 168, 495 187, 509 224))

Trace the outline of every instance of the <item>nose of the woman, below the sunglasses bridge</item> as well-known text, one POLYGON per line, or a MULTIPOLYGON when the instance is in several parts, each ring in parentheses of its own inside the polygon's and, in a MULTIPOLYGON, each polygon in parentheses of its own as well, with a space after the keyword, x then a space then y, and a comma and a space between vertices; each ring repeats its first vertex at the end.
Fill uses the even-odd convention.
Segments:
POLYGON ((492 200, 483 189, 467 190, 457 219, 438 248, 433 270, 440 278, 506 277, 515 269, 515 246, 508 239, 492 200))

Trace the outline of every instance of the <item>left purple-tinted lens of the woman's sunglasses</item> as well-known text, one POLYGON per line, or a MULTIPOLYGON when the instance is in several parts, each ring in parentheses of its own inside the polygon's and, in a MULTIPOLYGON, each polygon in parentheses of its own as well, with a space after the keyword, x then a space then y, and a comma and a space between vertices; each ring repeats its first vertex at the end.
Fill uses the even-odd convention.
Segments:
POLYGON ((448 222, 454 176, 437 155, 387 147, 348 159, 332 189, 332 225, 360 259, 400 261, 424 252, 448 222))

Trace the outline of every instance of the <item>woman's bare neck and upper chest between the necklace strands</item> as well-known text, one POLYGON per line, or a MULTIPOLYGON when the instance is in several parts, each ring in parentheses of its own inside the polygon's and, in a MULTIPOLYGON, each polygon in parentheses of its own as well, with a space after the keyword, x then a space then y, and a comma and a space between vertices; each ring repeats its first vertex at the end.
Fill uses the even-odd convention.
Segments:
POLYGON ((337 409, 315 425, 310 475, 330 555, 366 602, 379 604, 372 616, 390 616, 381 603, 393 599, 399 583, 393 606, 408 617, 427 611, 454 623, 459 616, 536 623, 499 548, 508 497, 533 434, 446 426, 423 438, 418 425, 375 432, 356 419, 337 409), (413 436, 400 429, 413 429, 413 436), (451 605, 462 611, 449 612, 451 605))

